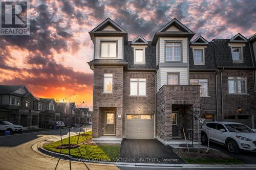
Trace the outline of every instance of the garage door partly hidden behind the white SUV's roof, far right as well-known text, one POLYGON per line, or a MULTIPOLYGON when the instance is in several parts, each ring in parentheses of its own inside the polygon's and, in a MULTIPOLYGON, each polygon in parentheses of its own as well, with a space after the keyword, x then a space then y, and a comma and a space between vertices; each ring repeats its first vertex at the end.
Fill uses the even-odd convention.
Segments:
POLYGON ((251 115, 224 115, 224 121, 237 122, 251 128, 251 115))

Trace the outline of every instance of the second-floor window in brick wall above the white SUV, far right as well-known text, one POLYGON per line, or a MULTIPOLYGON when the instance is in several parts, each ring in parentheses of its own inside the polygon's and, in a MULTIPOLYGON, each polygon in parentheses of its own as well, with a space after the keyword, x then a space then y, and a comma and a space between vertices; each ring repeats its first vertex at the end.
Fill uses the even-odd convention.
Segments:
POLYGON ((246 94, 246 77, 228 77, 228 93, 246 94))

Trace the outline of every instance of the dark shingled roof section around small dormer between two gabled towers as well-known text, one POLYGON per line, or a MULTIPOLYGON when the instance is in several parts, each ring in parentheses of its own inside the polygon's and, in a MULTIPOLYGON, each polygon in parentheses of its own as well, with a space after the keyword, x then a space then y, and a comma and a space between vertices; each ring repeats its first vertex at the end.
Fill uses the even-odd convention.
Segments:
POLYGON ((127 68, 138 68, 138 69, 155 69, 156 68, 156 46, 148 41, 147 47, 145 48, 146 64, 145 65, 134 65, 133 64, 133 47, 131 41, 124 44, 124 60, 128 62, 127 68))

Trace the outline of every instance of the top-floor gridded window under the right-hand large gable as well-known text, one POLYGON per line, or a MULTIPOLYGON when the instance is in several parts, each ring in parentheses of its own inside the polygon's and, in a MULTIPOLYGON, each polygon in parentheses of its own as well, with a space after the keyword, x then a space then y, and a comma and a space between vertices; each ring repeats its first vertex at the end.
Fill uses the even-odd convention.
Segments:
POLYGON ((181 61, 181 43, 165 43, 165 61, 181 61))

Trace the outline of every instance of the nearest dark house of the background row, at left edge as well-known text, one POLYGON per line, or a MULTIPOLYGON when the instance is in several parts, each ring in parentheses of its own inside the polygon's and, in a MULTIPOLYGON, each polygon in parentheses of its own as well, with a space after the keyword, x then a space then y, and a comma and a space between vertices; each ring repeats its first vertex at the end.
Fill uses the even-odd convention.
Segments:
POLYGON ((38 113, 34 108, 37 99, 25 87, 0 85, 0 119, 23 127, 38 127, 38 113))

